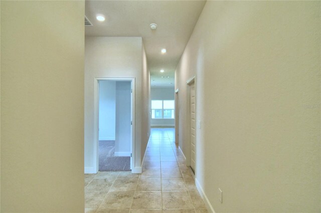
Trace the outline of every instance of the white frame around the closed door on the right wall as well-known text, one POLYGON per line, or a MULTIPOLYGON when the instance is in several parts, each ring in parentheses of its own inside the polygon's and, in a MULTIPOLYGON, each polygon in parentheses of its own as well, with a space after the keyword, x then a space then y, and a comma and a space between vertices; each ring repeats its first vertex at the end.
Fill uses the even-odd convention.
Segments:
MULTIPOLYGON (((196 116, 197 116, 197 108, 196 108, 196 101, 197 101, 197 95, 196 95, 196 80, 195 80, 196 76, 192 76, 191 78, 189 78, 186 81, 186 84, 188 85, 188 89, 187 89, 187 97, 188 97, 188 105, 187 105, 187 111, 188 111, 188 129, 189 129, 189 134, 188 134, 188 141, 189 141, 189 153, 186 155, 186 165, 189 166, 190 170, 192 170, 191 166, 191 84, 194 83, 194 87, 195 87, 195 125, 196 125, 196 116)), ((195 168, 194 168, 194 172, 192 172, 192 176, 195 177, 196 175, 196 150, 197 150, 197 139, 196 139, 196 130, 197 128, 195 128, 195 168), (194 174, 194 175, 193 175, 194 174)))

